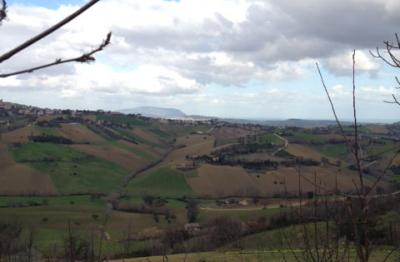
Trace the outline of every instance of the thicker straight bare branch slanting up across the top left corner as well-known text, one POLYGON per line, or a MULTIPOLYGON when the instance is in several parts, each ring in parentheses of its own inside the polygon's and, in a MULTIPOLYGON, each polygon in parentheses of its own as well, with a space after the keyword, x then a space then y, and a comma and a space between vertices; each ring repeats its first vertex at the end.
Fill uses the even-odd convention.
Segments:
MULTIPOLYGON (((5 3, 5 0, 2 0, 3 4, 5 3)), ((76 12, 74 12, 73 14, 67 16, 66 18, 64 18, 63 20, 61 20, 60 22, 58 22, 57 24, 53 25, 52 27, 50 27, 49 29, 43 31, 42 33, 34 36, 33 38, 27 40, 26 42, 22 43, 21 45, 13 48, 12 50, 8 51, 7 53, 3 54, 0 56, 0 63, 6 61, 7 59, 10 59, 11 57, 13 57, 14 55, 16 55, 17 53, 21 52, 22 50, 28 48, 29 46, 33 45, 34 43, 42 40, 43 38, 45 38, 46 36, 54 33, 55 31, 57 31, 58 29, 60 29, 61 27, 63 27, 64 25, 68 24, 69 22, 71 22, 72 20, 74 20, 76 17, 78 17, 79 15, 81 15, 83 12, 85 12, 86 10, 88 10, 90 7, 92 7, 94 4, 96 4, 97 2, 99 2, 100 0, 91 0, 89 1, 87 4, 85 4, 84 6, 82 6, 81 8, 79 8, 76 12)), ((4 8, 4 6, 3 6, 4 8)), ((5 15, 5 13, 4 13, 5 15)), ((0 20, 1 21, 1 20, 0 20)))

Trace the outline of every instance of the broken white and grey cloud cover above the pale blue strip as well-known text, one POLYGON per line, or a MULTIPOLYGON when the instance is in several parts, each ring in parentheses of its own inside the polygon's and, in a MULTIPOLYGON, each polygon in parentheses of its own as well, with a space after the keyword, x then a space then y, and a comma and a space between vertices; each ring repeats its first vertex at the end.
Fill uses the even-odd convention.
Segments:
MULTIPOLYGON (((272 81, 301 79, 314 60, 336 75, 346 75, 351 69, 349 51, 361 49, 366 54, 398 30, 400 5, 396 2, 237 0, 235 6, 230 0, 202 4, 155 0, 149 6, 146 1, 102 1, 73 24, 4 63, 0 71, 81 54, 112 30, 113 44, 99 54, 96 65, 90 70, 76 65, 54 67, 21 76, 19 82, 1 88, 51 89, 69 99, 90 92, 105 97, 140 94, 140 101, 151 97, 151 101, 169 103, 171 95, 200 96, 211 84, 243 87, 256 80, 271 86, 276 83, 272 81), (222 7, 216 8, 216 2, 222 7), (113 16, 104 19, 110 13, 113 16)), ((0 34, 7 36, 0 41, 0 52, 65 13, 11 6, 10 21, 0 27, 0 34), (31 15, 26 18, 26 14, 31 15)), ((368 55, 360 56, 358 66, 372 76, 381 69, 368 55)), ((276 94, 266 95, 271 105, 279 100, 276 94)), ((215 106, 223 98, 218 100, 215 106)), ((240 101, 251 104, 254 97, 240 101)))

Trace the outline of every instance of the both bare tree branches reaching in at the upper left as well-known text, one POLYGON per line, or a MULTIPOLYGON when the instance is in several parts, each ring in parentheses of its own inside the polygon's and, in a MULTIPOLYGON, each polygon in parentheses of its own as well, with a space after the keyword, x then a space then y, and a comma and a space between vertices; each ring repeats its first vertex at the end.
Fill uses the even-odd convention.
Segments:
MULTIPOLYGON (((82 15, 85 11, 87 11, 89 8, 97 4, 100 0, 91 0, 85 5, 83 5, 81 8, 79 8, 77 11, 72 13, 71 15, 67 16, 66 18, 62 19, 60 22, 56 23, 55 25, 51 26, 47 30, 37 34, 36 36, 28 39, 24 43, 12 48, 8 52, 0 55, 0 64, 11 59, 14 55, 18 54, 19 52, 27 49, 28 47, 32 46, 33 44, 37 43, 38 41, 44 39, 45 37, 53 34, 72 20, 76 19, 80 15, 82 15)), ((0 25, 1 22, 7 17, 7 2, 5 0, 1 0, 1 9, 0 9, 0 25)), ((61 64, 66 64, 66 63, 90 63, 94 62, 96 59, 94 55, 100 51, 102 51, 106 46, 108 46, 111 42, 111 32, 107 34, 106 38, 103 40, 103 42, 96 48, 78 56, 78 57, 73 57, 73 58, 56 58, 54 62, 49 62, 44 65, 38 65, 32 68, 25 68, 18 70, 16 72, 9 72, 5 74, 0 74, 0 78, 6 78, 10 76, 15 76, 15 75, 20 75, 20 74, 26 74, 26 73, 32 73, 37 70, 45 69, 48 67, 56 66, 56 65, 61 65, 61 64)))

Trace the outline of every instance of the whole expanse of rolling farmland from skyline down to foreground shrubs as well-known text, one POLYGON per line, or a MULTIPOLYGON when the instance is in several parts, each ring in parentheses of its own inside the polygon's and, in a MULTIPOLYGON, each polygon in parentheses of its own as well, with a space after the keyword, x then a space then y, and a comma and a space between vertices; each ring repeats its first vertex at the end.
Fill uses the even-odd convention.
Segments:
MULTIPOLYGON (((375 161, 365 176, 371 186, 400 143, 382 127, 365 128, 362 135, 363 152, 375 161)), ((197 252, 240 245, 248 250, 243 259, 279 261, 276 227, 294 223, 290 212, 308 206, 321 191, 343 199, 341 194, 354 194, 359 186, 335 128, 90 112, 3 131, 0 156, 0 223, 18 222, 23 236, 35 228, 34 248, 47 255, 60 252, 69 228, 96 241, 106 235, 104 254, 115 259, 162 254, 165 245, 171 253, 183 252, 183 246, 197 252), (198 223, 200 231, 185 231, 188 222, 198 223), (240 230, 230 238, 212 233, 232 225, 240 230), (171 234, 184 237, 170 243, 171 234), (273 248, 265 251, 266 245, 273 248)), ((380 193, 398 187, 398 162, 394 158, 379 183, 380 193)), ((238 256, 232 254, 196 253, 187 261, 238 256)))

